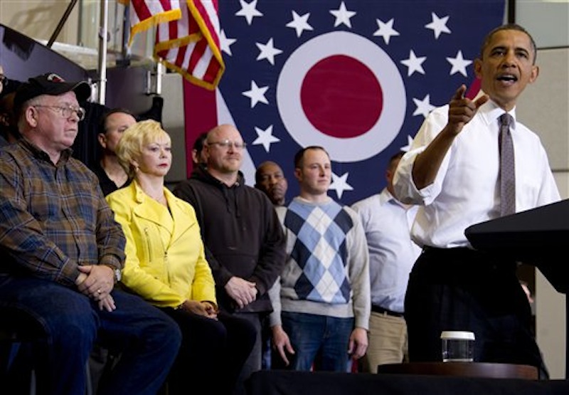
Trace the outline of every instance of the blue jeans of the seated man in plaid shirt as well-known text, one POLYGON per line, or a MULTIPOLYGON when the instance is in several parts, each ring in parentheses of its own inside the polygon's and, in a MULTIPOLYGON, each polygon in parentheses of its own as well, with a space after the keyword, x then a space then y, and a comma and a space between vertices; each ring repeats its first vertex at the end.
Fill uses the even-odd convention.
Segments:
MULTIPOLYGON (((99 394, 152 395, 159 391, 181 343, 178 325, 141 298, 113 290, 117 310, 62 285, 38 278, 0 276, 0 306, 28 313, 45 332, 33 349, 38 388, 46 394, 85 391, 85 363, 97 340, 120 352, 99 394)), ((3 318, 4 319, 4 318, 3 318)))

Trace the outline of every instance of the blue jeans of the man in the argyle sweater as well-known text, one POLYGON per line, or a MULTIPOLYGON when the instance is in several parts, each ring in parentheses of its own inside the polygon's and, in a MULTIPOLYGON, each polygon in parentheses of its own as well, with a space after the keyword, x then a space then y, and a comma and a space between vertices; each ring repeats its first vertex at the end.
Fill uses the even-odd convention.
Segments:
POLYGON ((353 318, 282 312, 282 329, 289 335, 295 354, 290 368, 346 372, 348 344, 353 330, 353 318))

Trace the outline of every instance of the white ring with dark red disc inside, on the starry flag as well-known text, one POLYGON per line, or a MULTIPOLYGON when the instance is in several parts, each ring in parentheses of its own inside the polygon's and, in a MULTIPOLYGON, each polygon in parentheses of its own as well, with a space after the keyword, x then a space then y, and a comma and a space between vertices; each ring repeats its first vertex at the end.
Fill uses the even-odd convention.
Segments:
POLYGON ((277 83, 277 107, 289 136, 301 147, 320 145, 334 162, 358 162, 383 151, 398 135, 407 102, 398 67, 385 51, 357 34, 334 31, 306 41, 290 54, 277 83), (334 67, 339 60, 358 72, 339 75, 334 67), (368 73, 373 74, 371 82, 368 73), (331 85, 323 93, 319 84, 331 85), (318 88, 314 96, 307 96, 309 86, 318 88), (369 95, 365 99, 361 89, 369 95), (368 114, 362 107, 370 102, 375 105, 368 114), (346 108, 346 103, 351 104, 346 108), (352 112, 365 118, 368 126, 352 112))

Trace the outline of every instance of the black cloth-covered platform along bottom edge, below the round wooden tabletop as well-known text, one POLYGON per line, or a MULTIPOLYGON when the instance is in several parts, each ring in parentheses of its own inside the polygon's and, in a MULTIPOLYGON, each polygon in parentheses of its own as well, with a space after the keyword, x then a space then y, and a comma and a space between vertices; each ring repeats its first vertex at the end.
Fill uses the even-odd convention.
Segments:
POLYGON ((567 395, 565 380, 533 381, 413 374, 255 372, 249 395, 567 395))

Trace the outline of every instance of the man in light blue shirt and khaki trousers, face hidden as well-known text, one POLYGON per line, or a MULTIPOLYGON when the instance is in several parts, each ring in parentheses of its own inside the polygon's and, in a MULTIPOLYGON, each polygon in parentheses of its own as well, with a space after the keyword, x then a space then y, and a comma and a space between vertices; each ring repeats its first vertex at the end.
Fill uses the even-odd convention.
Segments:
POLYGON ((385 169, 387 185, 381 193, 351 206, 361 218, 369 249, 371 316, 368 352, 363 357, 363 372, 368 373, 377 373, 379 364, 408 360, 403 302, 409 273, 421 249, 410 233, 418 206, 393 197, 393 174, 403 154, 390 157, 385 169))

